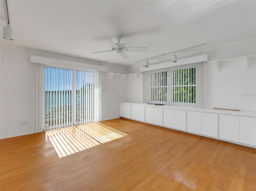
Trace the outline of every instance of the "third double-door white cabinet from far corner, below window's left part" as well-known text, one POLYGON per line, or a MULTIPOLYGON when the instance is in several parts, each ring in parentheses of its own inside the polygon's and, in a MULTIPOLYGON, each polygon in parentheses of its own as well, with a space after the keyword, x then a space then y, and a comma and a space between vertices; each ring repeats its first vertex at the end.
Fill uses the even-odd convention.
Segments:
POLYGON ((163 109, 157 107, 145 107, 145 121, 156 125, 163 125, 163 109))

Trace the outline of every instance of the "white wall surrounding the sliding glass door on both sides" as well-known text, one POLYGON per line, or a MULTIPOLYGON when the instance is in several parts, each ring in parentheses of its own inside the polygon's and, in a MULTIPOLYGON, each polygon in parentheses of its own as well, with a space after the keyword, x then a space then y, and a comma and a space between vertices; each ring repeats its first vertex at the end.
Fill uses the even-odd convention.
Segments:
MULTIPOLYGON (((38 132, 35 129, 35 92, 38 65, 30 63, 30 55, 100 65, 99 62, 43 51, 1 44, 0 65, 0 138, 38 132), (20 121, 28 125, 20 126, 20 121)), ((127 68, 104 64, 110 72, 127 73, 127 68)), ((105 84, 105 82, 104 82, 105 84)), ((102 93, 102 120, 119 117, 118 102, 126 100, 126 80, 106 75, 106 91, 102 93), (116 102, 113 102, 116 99, 116 102)))

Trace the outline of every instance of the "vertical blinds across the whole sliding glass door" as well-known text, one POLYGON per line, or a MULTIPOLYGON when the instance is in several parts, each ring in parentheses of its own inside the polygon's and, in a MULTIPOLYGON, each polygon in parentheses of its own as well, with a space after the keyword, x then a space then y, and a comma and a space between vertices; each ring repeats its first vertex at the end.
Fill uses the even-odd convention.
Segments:
POLYGON ((95 72, 45 66, 45 129, 94 122, 95 72))

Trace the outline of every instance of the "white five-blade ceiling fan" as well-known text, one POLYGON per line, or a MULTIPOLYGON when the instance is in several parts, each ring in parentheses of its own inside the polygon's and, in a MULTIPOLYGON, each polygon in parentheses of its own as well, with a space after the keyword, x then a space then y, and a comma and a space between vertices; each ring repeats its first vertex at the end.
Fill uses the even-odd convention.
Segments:
POLYGON ((110 39, 103 39, 107 43, 109 43, 112 46, 111 50, 104 50, 99 52, 93 52, 94 54, 98 53, 104 53, 104 52, 110 52, 110 51, 116 51, 116 54, 119 54, 123 59, 128 59, 129 56, 124 51, 148 51, 148 47, 126 47, 125 44, 120 43, 120 40, 122 39, 121 36, 117 36, 117 43, 114 43, 110 39))

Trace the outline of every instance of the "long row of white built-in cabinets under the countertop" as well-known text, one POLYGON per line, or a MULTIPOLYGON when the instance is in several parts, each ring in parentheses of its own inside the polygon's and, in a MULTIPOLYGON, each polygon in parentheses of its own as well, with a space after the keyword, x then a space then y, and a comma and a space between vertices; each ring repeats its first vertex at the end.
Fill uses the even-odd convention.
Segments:
POLYGON ((253 112, 187 110, 122 102, 120 116, 256 148, 256 115, 253 112))

